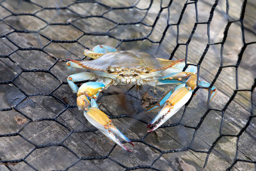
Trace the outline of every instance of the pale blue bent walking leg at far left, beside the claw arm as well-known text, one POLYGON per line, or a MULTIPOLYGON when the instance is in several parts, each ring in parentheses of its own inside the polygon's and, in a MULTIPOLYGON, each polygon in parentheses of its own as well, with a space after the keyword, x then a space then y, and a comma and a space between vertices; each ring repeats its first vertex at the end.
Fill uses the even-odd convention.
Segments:
POLYGON ((75 82, 84 81, 84 80, 93 80, 95 76, 93 73, 82 72, 82 73, 75 73, 73 75, 69 75, 67 78, 68 85, 72 89, 73 93, 77 93, 78 87, 75 82))

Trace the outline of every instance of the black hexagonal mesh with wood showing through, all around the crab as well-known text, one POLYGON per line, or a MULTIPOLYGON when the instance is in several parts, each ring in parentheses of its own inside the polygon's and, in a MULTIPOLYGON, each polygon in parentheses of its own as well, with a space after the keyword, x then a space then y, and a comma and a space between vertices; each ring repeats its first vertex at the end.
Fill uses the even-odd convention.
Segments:
POLYGON ((0 1, 0 170, 255 170, 254 1, 0 1), (253 25, 254 24, 254 25, 253 25), (168 123, 143 114, 173 86, 112 86, 98 102, 125 152, 77 110, 67 58, 98 44, 186 59, 197 87, 168 123))

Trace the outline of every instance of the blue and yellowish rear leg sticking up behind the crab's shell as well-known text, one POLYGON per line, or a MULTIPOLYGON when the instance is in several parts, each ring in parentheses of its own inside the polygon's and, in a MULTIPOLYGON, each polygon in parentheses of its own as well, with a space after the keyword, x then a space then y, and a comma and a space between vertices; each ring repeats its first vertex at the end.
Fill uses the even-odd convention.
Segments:
POLYGON ((107 45, 97 45, 92 48, 92 50, 84 50, 84 56, 91 57, 92 59, 97 59, 100 56, 108 53, 108 52, 116 52, 116 48, 109 47, 107 45))

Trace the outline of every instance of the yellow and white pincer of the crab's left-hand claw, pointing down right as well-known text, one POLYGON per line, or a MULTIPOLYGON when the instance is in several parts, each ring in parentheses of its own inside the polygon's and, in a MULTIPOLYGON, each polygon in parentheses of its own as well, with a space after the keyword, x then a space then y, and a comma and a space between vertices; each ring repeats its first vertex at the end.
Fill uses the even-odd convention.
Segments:
POLYGON ((91 107, 88 111, 84 111, 84 117, 86 117, 86 119, 93 126, 95 126, 100 132, 106 135, 106 137, 108 137, 110 140, 113 140, 113 142, 115 142, 126 151, 132 152, 131 149, 128 149, 124 144, 120 142, 118 137, 122 138, 122 140, 125 140, 125 142, 129 142, 132 146, 134 146, 134 144, 113 125, 108 116, 99 110, 99 108, 91 107))

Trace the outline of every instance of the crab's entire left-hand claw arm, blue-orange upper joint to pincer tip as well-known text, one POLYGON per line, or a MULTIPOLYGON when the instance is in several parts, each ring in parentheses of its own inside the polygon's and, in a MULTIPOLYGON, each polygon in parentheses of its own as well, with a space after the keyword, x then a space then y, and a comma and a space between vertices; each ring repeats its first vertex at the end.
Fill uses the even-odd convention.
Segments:
POLYGON ((84 111, 84 117, 95 126, 100 132, 102 132, 110 140, 113 140, 117 145, 120 145, 126 151, 131 152, 124 144, 120 142, 118 137, 129 142, 134 146, 134 144, 125 137, 125 135, 119 131, 112 123, 111 119, 108 118, 104 112, 102 112, 96 102, 99 92, 105 88, 102 82, 86 82, 77 91, 77 106, 79 110, 84 111))

